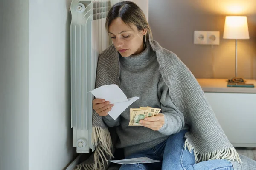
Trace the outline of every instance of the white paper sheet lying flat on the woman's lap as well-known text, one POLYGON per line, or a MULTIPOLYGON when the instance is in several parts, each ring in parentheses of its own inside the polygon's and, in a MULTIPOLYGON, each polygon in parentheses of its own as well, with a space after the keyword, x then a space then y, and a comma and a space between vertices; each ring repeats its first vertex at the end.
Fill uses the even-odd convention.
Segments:
POLYGON ((155 162, 161 162, 159 160, 153 160, 148 157, 140 157, 140 158, 131 158, 131 159, 121 159, 121 160, 115 160, 110 161, 116 164, 148 164, 148 163, 155 163, 155 162))

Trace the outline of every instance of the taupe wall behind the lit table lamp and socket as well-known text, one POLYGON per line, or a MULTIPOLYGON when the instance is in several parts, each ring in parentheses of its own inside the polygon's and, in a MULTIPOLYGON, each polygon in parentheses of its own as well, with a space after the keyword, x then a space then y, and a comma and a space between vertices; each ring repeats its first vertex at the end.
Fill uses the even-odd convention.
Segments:
POLYGON ((243 7, 248 16, 250 40, 238 40, 238 76, 256 79, 256 1, 149 0, 149 24, 154 40, 175 52, 197 78, 235 76, 235 40, 223 39, 223 6, 243 7), (223 4, 222 4, 223 3, 223 4), (210 6, 210 7, 209 7, 210 6), (220 31, 220 45, 194 45, 193 32, 220 31))

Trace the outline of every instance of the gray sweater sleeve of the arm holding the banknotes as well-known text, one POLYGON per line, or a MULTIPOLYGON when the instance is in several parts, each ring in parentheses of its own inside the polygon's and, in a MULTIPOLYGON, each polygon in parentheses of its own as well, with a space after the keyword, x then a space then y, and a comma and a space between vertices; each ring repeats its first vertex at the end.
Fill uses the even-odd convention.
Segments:
POLYGON ((185 125, 184 115, 172 102, 169 95, 169 88, 162 77, 158 83, 158 96, 161 103, 161 111, 164 115, 164 125, 158 130, 163 135, 172 135, 180 132, 185 125))

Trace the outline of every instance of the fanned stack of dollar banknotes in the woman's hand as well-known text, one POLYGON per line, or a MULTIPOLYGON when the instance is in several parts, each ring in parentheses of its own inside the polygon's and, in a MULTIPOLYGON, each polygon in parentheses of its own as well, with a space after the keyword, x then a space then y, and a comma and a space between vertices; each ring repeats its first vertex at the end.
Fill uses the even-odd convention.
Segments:
POLYGON ((161 109, 151 108, 151 107, 140 107, 140 108, 131 108, 130 109, 130 122, 129 126, 142 126, 140 125, 140 120, 145 119, 146 117, 155 116, 160 113, 161 109))

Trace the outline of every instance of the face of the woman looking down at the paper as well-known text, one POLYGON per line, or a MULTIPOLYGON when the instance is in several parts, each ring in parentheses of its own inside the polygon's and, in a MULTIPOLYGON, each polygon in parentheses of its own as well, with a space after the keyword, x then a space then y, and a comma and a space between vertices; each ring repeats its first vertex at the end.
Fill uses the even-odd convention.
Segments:
POLYGON ((143 51, 143 35, 145 30, 139 31, 134 24, 132 29, 120 17, 112 21, 109 26, 109 35, 122 57, 140 54, 143 51))

